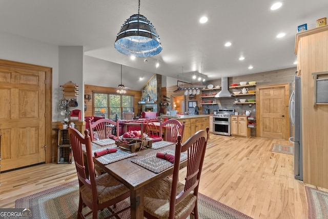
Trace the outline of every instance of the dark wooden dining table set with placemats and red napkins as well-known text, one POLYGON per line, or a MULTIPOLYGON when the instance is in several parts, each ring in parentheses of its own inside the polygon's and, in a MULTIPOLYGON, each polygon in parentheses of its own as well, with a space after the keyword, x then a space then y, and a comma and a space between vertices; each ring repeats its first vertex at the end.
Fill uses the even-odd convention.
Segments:
MULTIPOLYGON (((125 150, 118 148, 118 150, 125 150)), ((175 144, 169 145, 162 150, 175 150, 175 144)), ((139 150, 135 156, 125 158, 110 164, 104 165, 94 158, 94 163, 99 165, 105 172, 109 173, 116 180, 123 183, 130 189, 130 203, 131 203, 131 218, 144 218, 144 192, 145 189, 151 185, 156 184, 162 178, 173 174, 173 164, 165 170, 160 172, 153 172, 145 167, 142 167, 135 161, 147 160, 148 157, 156 156, 157 152, 161 150, 154 150, 151 148, 144 148, 139 150)), ((168 162, 168 161, 165 161, 168 162)), ((169 164, 171 165, 171 163, 169 164)), ((180 169, 187 166, 187 160, 180 162, 180 169)))

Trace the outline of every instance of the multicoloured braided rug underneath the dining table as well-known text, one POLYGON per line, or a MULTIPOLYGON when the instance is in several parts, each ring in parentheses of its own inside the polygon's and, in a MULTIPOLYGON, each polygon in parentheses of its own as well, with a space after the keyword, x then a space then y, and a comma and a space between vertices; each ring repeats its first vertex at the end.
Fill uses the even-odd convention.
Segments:
MULTIPOLYGON (((199 218, 202 219, 247 219, 251 218, 233 208, 219 203, 212 198, 199 194, 198 196, 199 218)), ((116 209, 123 209, 130 204, 129 198, 120 202, 116 209)), ((33 218, 65 218, 73 219, 77 215, 78 206, 78 182, 73 181, 67 184, 56 186, 42 192, 38 192, 16 200, 15 208, 29 208, 32 211, 33 218)), ((85 207, 84 211, 88 211, 85 207)), ((110 215, 108 210, 98 212, 98 218, 104 218, 110 215)), ((130 218, 130 211, 124 211, 119 214, 122 219, 130 218)), ((87 218, 92 218, 89 215, 87 218)))

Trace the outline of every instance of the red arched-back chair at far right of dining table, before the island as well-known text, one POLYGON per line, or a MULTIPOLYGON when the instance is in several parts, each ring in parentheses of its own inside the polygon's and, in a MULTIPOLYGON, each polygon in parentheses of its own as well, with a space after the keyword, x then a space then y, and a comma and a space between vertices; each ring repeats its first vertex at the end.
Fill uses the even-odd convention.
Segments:
POLYGON ((183 137, 185 123, 186 121, 183 121, 181 124, 180 121, 175 119, 162 122, 162 119, 160 119, 159 133, 164 133, 164 141, 176 143, 178 135, 183 137))

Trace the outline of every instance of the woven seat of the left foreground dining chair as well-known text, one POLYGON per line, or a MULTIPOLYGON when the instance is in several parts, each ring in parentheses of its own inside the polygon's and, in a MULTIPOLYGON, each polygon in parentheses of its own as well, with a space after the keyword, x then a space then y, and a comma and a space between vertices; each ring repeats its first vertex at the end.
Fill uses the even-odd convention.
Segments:
MULTIPOLYGON (((108 173, 101 174, 96 177, 98 204, 112 200, 126 192, 129 189, 108 173)), ((84 196, 92 203, 92 190, 86 186, 81 186, 80 195, 84 196)))

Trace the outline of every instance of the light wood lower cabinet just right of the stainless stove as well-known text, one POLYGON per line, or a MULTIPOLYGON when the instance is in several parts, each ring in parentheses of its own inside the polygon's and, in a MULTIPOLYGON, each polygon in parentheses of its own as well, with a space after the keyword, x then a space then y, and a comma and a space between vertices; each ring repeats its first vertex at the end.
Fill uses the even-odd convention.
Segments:
POLYGON ((239 135, 249 137, 251 135, 251 128, 248 128, 247 116, 232 115, 230 120, 230 133, 232 135, 239 135))

